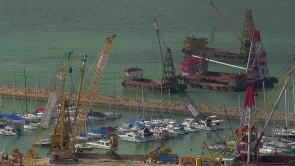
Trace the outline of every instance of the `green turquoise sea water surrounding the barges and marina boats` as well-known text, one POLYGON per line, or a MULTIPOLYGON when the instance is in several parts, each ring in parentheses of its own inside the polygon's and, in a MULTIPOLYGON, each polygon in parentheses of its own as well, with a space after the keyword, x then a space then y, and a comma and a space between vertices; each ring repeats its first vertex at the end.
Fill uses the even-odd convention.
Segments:
MULTIPOLYGON (((255 27, 260 30, 263 48, 268 55, 270 75, 281 79, 283 73, 294 63, 295 26, 292 20, 295 2, 293 0, 216 0, 214 4, 238 34, 242 30, 244 10, 247 8, 252 10, 255 27)), ((146 78, 160 79, 162 74, 153 16, 157 17, 160 37, 164 41, 162 46, 167 45, 171 48, 175 66, 183 60, 181 48, 185 36, 194 34, 210 38, 213 26, 216 26, 213 47, 239 48, 238 40, 207 0, 0 0, 0 84, 12 85, 13 69, 17 86, 24 86, 23 69, 25 69, 26 86, 35 87, 36 69, 37 86, 48 88, 63 53, 73 50, 72 78, 73 84, 77 87, 82 54, 88 54, 86 62, 88 70, 102 48, 105 38, 115 33, 117 37, 113 41, 111 54, 97 92, 112 95, 115 91, 116 95, 135 97, 135 92, 121 89, 120 82, 124 79, 125 67, 143 68, 146 78)), ((245 64, 235 65, 245 66, 245 64)), ((224 72, 240 71, 213 63, 210 63, 209 67, 210 70, 224 72)), ((86 75, 86 80, 89 80, 90 75, 86 75)), ((70 88, 69 84, 68 77, 67 89, 70 88)), ((84 91, 85 89, 83 87, 84 91)), ((190 87, 186 91, 197 103, 238 106, 238 95, 241 103, 244 99, 244 92, 190 87)), ((261 93, 262 90, 258 92, 261 93)), ((137 93, 138 96, 141 95, 137 93)), ((151 98, 150 93, 146 96, 151 98)), ((160 99, 161 96, 154 94, 153 98, 160 99)), ((257 101, 262 101, 261 98, 257 98, 257 101)), ((167 100, 168 96, 163 95, 163 99, 167 100)), ((170 99, 179 100, 177 94, 172 94, 170 99)), ((13 100, 2 98, 2 103, 3 112, 13 111, 13 100)), ((31 106, 32 109, 37 107, 34 101, 32 105, 34 105, 31 106)), ((15 102, 15 111, 21 111, 18 100, 15 102)), ((125 113, 119 122, 128 121, 129 111, 120 111, 125 113)), ((132 118, 134 117, 133 114, 132 118)), ((181 122, 184 116, 177 115, 175 118, 181 122)), ((31 135, 34 135, 33 131, 24 136, 25 141, 30 142, 33 137, 31 135)), ((194 155, 201 151, 199 142, 204 137, 201 132, 177 137, 168 142, 171 148, 177 149, 177 153, 194 155), (189 148, 197 151, 190 151, 189 148)), ((19 139, 22 138, 0 136, 0 140, 9 146, 20 142, 19 139)), ((126 153, 142 154, 157 146, 157 143, 122 144, 126 146, 119 150, 125 149, 126 153), (129 146, 132 148, 127 148, 129 146)), ((20 147, 22 151, 26 151, 29 143, 22 143, 20 147)), ((15 147, 12 145, 9 148, 15 147)), ((45 151, 43 150, 43 154, 45 151)))

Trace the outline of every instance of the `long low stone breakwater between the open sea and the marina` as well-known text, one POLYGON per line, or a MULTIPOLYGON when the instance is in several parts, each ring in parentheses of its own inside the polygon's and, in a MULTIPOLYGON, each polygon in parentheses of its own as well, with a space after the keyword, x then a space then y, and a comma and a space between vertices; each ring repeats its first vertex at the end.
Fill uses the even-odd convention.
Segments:
MULTIPOLYGON (((25 98, 25 91, 27 98, 36 98, 36 89, 35 88, 25 88, 24 87, 14 87, 15 97, 16 98, 25 98)), ((13 87, 7 85, 0 85, 0 93, 1 96, 4 97, 13 97, 13 87)), ((62 92, 62 95, 59 99, 68 98, 72 103, 75 103, 76 93, 71 92, 62 92)), ((47 100, 49 96, 49 90, 47 89, 37 89, 37 98, 39 100, 47 100)), ((81 93, 80 102, 83 102, 84 94, 81 93)), ((186 108, 185 104, 182 101, 167 101, 167 100, 156 100, 156 99, 146 99, 148 109, 153 111, 171 111, 171 113, 180 113, 180 114, 190 114, 189 110, 186 108)), ((130 109, 133 111, 137 110, 137 106, 140 107, 142 105, 141 98, 135 97, 127 97, 127 96, 109 96, 96 94, 93 100, 93 105, 108 107, 118 107, 130 109)), ((219 117, 223 117, 224 114, 224 106, 223 105, 211 105, 211 104, 196 104, 201 112, 206 115, 217 115, 219 117)), ((240 119, 240 113, 242 109, 239 109, 235 106, 225 106, 227 115, 231 119, 240 119)), ((264 114, 262 115, 264 117, 264 114)), ((284 119, 284 112, 275 112, 274 119, 280 120, 281 117, 284 119)), ((289 112, 288 115, 289 124, 294 123, 294 113, 289 112)), ((264 118, 263 118, 264 119, 264 118)), ((285 120, 283 120, 285 121, 285 120)))

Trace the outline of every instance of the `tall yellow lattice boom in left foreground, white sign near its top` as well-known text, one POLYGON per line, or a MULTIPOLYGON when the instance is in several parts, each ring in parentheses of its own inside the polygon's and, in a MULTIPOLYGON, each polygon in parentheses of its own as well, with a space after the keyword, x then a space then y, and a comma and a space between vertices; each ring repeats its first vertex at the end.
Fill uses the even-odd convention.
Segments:
POLYGON ((60 161, 63 159, 74 159, 74 161, 76 161, 77 158, 73 156, 73 152, 75 143, 78 141, 80 136, 78 133, 81 132, 85 124, 85 120, 88 116, 88 112, 91 109, 92 101, 94 100, 94 97, 96 95, 97 87, 102 77, 102 73, 110 53, 111 43, 115 36, 115 34, 112 34, 106 38, 104 46, 99 53, 97 64, 94 68, 92 77, 90 79, 87 92, 83 96, 83 102, 81 104, 81 107, 80 109, 76 107, 76 112, 78 110, 79 112, 77 113, 77 116, 74 119, 75 123, 73 123, 72 126, 69 143, 64 147, 66 149, 66 152, 52 153, 50 156, 51 163, 58 162, 58 160, 60 161))

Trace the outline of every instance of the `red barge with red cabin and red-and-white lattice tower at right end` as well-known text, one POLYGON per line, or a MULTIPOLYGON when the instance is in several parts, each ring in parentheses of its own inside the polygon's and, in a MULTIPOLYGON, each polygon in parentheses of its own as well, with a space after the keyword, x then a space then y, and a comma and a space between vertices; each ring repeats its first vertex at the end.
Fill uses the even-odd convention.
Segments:
POLYGON ((181 73, 178 74, 178 77, 180 80, 189 83, 191 87, 227 91, 245 90, 249 84, 261 87, 264 82, 265 87, 271 87, 274 83, 277 83, 278 78, 268 74, 266 52, 262 48, 260 33, 257 29, 253 30, 249 52, 247 67, 238 67, 244 69, 244 72, 208 71, 208 61, 229 64, 210 60, 206 58, 205 53, 202 53, 199 56, 192 56, 196 58, 189 58, 179 62, 181 73))

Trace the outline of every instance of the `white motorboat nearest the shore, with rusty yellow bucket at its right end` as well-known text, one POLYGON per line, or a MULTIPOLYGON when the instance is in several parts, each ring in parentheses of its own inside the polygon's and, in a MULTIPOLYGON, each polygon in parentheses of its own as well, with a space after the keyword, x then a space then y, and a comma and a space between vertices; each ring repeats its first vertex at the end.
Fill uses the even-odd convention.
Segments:
POLYGON ((96 142, 92 142, 92 141, 86 142, 86 144, 89 144, 95 148, 103 148, 103 149, 110 149, 110 150, 118 149, 118 142, 115 136, 111 136, 110 139, 106 139, 106 138, 100 139, 100 140, 97 140, 96 142))

